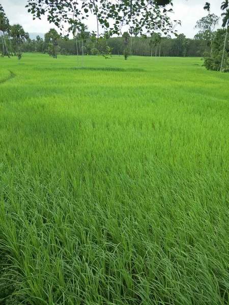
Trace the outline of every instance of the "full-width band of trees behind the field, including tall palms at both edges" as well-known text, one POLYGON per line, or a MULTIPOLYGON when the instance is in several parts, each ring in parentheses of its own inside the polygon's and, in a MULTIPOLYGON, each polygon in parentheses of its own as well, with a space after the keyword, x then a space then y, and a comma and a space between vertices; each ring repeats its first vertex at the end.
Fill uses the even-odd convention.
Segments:
MULTIPOLYGON (((98 55, 105 57, 117 54, 124 55, 127 59, 130 55, 139 56, 202 56, 204 65, 208 70, 228 71, 229 70, 229 10, 228 0, 221 4, 223 23, 222 28, 215 31, 219 17, 211 12, 210 3, 206 3, 204 16, 196 22, 195 27, 198 33, 193 39, 186 38, 184 34, 162 37, 161 33, 152 33, 150 36, 141 35, 137 27, 130 26, 129 31, 124 32, 122 37, 110 37, 111 32, 105 31, 102 36, 96 32, 89 32, 87 25, 79 22, 69 21, 68 32, 72 33, 73 39, 69 36, 63 37, 51 28, 45 34, 44 39, 37 36, 31 40, 19 24, 10 25, 2 6, 0 6, 0 47, 2 56, 17 54, 21 52, 43 52, 57 58, 58 53, 63 55, 98 55), (141 35, 141 37, 139 37, 141 35)), ((164 33, 165 34, 165 33, 164 33)), ((83 59, 82 59, 83 65, 83 59)))

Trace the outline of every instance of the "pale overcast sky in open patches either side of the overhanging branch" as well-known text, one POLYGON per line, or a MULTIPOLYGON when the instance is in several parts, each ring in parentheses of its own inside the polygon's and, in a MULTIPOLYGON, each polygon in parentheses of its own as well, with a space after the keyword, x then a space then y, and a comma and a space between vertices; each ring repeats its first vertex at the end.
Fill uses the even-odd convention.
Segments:
MULTIPOLYGON (((222 13, 220 5, 223 0, 208 1, 211 3, 211 12, 220 16, 222 13)), ((25 8, 26 2, 27 0, 0 0, 11 24, 20 23, 28 33, 46 33, 50 27, 54 27, 45 17, 42 20, 33 20, 32 14, 27 13, 25 8)), ((206 0, 174 0, 174 14, 171 14, 171 19, 181 20, 182 26, 177 27, 179 34, 184 33, 188 38, 194 37, 197 33, 194 29, 196 21, 207 15, 207 12, 203 10, 205 3, 206 0)), ((93 17, 85 23, 88 24, 90 31, 96 31, 93 17)))

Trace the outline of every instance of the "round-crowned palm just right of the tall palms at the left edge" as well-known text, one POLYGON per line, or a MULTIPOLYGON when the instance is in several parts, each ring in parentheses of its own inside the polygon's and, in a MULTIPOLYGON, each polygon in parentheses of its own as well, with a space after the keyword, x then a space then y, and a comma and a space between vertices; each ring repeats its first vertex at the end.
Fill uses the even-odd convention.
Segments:
POLYGON ((21 46, 30 36, 28 33, 24 32, 24 29, 20 24, 11 26, 10 35, 13 38, 15 53, 17 54, 18 59, 21 59, 21 46))

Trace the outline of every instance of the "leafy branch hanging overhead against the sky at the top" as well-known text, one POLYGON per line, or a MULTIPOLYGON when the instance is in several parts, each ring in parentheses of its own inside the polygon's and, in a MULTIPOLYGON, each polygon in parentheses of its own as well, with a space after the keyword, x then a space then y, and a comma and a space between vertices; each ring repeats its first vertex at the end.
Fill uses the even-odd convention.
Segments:
POLYGON ((26 7, 34 19, 47 14, 50 23, 64 31, 64 23, 82 22, 89 14, 96 15, 97 22, 110 34, 121 34, 123 25, 134 26, 140 35, 159 29, 164 32, 174 30, 179 20, 172 22, 168 13, 173 12, 173 0, 28 0, 26 7), (170 4, 168 7, 165 5, 170 4))

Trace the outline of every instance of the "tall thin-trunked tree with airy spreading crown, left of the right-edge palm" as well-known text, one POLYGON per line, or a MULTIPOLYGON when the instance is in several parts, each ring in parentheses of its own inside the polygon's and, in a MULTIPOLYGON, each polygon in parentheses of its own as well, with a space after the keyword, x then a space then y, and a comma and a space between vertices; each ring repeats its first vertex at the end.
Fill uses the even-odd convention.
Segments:
POLYGON ((207 34, 207 41, 210 41, 211 44, 211 56, 212 56, 212 32, 214 31, 216 25, 218 24, 219 21, 219 17, 216 16, 215 14, 210 14, 210 4, 206 3, 205 5, 205 10, 208 10, 208 16, 203 17, 201 19, 199 19, 196 22, 195 28, 199 28, 199 34, 202 34, 205 32, 205 34, 207 34))

